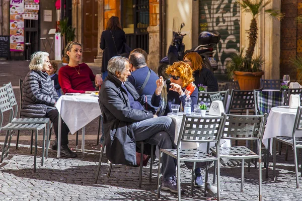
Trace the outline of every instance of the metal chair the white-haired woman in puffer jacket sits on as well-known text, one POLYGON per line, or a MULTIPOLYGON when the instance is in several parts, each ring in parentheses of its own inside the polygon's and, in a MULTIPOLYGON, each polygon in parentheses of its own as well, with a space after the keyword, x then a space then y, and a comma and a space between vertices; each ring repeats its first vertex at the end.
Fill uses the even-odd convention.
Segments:
MULTIPOLYGON (((22 84, 23 84, 23 80, 19 79, 19 89, 20 89, 20 110, 22 108, 22 96, 23 96, 23 89, 22 89, 22 84)), ((45 157, 48 157, 48 148, 49 148, 49 143, 50 143, 50 135, 51 135, 51 128, 52 128, 52 123, 50 122, 49 118, 21 118, 21 111, 19 114, 19 118, 17 117, 18 114, 18 105, 17 105, 17 100, 16 100, 16 96, 12 87, 11 82, 9 82, 8 84, 5 84, 7 87, 7 91, 8 94, 10 96, 10 100, 11 100, 11 105, 12 107, 16 106, 15 108, 15 112, 14 112, 14 119, 12 120, 12 122, 14 123, 26 123, 26 124, 45 124, 46 125, 46 140, 47 140, 47 144, 46 144, 46 154, 45 157)), ((16 141, 16 149, 18 149, 18 144, 19 144, 19 136, 20 136, 20 131, 18 131, 17 133, 17 141, 16 141)), ((30 154, 33 153, 33 136, 34 136, 34 132, 32 131, 31 133, 31 141, 30 141, 30 154)))

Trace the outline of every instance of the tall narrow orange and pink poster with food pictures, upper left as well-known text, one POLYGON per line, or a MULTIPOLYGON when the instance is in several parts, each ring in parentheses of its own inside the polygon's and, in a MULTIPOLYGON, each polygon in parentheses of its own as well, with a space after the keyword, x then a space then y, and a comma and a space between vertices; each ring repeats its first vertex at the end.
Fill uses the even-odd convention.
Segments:
POLYGON ((24 51, 24 2, 11 0, 10 6, 10 51, 24 51))

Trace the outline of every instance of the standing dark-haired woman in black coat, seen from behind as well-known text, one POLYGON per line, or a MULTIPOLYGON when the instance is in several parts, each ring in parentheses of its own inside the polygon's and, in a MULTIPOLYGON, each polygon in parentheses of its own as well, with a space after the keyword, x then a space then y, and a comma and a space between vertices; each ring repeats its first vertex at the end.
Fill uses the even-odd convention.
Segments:
POLYGON ((103 50, 102 59, 102 77, 108 75, 108 61, 113 56, 123 53, 124 43, 126 43, 126 35, 120 26, 118 17, 112 16, 107 24, 106 30, 102 32, 100 48, 103 50))

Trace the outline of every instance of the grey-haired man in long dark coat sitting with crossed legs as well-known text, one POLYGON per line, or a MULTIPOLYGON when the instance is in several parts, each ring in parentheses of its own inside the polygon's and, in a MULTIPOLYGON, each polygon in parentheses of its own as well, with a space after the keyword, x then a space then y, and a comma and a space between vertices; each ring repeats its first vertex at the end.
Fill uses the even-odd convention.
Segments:
MULTIPOLYGON (((143 110, 130 75, 128 59, 113 57, 108 62, 108 76, 103 82, 99 103, 103 114, 106 157, 114 164, 136 165, 135 141, 173 149, 175 123, 169 117, 157 117, 143 110)), ((177 192, 176 161, 163 154, 162 189, 177 192)))

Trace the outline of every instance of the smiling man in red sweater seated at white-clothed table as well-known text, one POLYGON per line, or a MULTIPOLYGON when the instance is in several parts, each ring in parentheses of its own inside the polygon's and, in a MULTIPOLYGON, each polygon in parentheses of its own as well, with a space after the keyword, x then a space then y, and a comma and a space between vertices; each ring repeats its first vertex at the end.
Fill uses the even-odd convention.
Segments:
POLYGON ((91 93, 95 91, 92 81, 96 86, 103 83, 102 75, 94 75, 86 63, 79 63, 82 59, 81 43, 71 41, 64 50, 64 57, 68 65, 59 70, 59 84, 64 93, 91 93))

